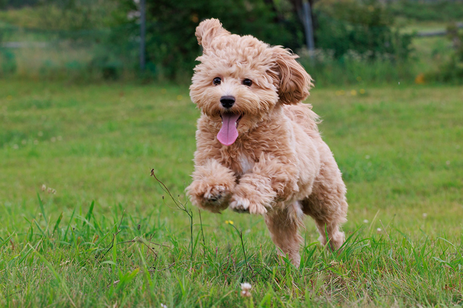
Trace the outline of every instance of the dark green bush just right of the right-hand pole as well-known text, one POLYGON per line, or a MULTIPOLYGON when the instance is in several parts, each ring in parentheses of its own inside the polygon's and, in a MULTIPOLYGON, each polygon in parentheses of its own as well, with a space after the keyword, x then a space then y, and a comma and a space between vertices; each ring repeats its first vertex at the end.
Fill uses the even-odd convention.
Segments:
POLYGON ((377 1, 320 2, 315 6, 316 46, 334 50, 341 58, 348 50, 375 59, 390 54, 407 59, 412 36, 393 30, 394 16, 377 1))

